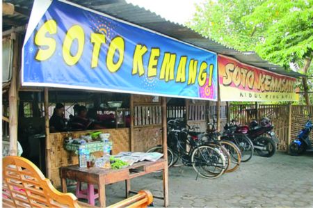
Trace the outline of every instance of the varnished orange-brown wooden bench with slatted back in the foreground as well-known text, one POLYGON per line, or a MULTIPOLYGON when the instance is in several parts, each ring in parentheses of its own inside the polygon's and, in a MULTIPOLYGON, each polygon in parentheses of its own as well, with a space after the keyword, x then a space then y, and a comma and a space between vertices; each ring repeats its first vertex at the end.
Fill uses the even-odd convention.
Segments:
MULTIPOLYGON (((23 157, 3 158, 2 177, 3 207, 93 207, 79 202, 72 193, 56 190, 39 168, 23 157)), ((147 207, 152 201, 150 191, 139 191, 110 208, 147 207)))

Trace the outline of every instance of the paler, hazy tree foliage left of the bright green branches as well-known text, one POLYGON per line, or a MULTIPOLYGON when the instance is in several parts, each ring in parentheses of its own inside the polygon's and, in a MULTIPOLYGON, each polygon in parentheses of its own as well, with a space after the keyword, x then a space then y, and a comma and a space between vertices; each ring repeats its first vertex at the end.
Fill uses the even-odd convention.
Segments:
POLYGON ((207 0, 196 5, 187 25, 198 33, 239 51, 254 51, 259 38, 241 19, 264 0, 207 0))

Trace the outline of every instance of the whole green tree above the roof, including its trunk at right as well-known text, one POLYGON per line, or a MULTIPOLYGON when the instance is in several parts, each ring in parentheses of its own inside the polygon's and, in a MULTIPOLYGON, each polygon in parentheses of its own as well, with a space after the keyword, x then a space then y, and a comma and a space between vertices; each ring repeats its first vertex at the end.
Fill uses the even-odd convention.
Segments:
MULTIPOLYGON (((296 63, 311 74, 313 57, 312 0, 207 0, 196 7, 188 23, 195 31, 239 51, 259 56, 285 68, 296 63)), ((303 89, 310 99, 307 79, 303 89)))

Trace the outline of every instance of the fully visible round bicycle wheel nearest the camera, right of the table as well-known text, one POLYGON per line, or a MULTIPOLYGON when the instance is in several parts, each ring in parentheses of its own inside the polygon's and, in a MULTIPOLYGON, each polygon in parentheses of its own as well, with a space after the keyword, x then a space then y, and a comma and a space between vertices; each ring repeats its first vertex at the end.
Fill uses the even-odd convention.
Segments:
POLYGON ((191 154, 193 169, 200 176, 214 179, 220 177, 225 170, 225 157, 214 147, 201 145, 191 154))

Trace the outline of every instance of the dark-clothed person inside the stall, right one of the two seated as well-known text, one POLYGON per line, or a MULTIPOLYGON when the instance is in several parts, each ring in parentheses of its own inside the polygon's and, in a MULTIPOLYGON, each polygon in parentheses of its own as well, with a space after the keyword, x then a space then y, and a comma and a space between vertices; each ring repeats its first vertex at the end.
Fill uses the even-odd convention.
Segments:
POLYGON ((86 130, 86 129, 102 129, 103 127, 97 125, 95 122, 87 118, 86 106, 79 106, 77 108, 77 115, 74 116, 69 122, 70 129, 72 130, 86 130))

